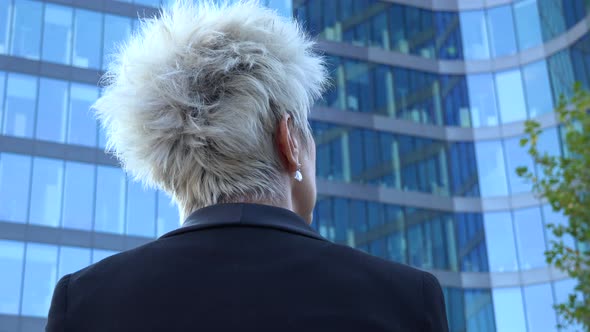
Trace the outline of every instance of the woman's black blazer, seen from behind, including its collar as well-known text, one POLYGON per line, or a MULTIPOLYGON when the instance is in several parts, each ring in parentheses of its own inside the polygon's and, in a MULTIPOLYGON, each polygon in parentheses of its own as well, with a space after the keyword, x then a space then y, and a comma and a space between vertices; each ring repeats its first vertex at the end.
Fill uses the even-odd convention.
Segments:
POLYGON ((46 331, 448 331, 434 276, 255 204, 196 211, 158 240, 66 275, 46 331))

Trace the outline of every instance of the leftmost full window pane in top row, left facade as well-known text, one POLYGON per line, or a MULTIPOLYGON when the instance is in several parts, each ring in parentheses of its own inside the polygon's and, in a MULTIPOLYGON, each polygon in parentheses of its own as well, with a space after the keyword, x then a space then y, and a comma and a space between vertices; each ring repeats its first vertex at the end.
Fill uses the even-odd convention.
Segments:
POLYGON ((43 3, 15 0, 10 54, 39 60, 43 3))

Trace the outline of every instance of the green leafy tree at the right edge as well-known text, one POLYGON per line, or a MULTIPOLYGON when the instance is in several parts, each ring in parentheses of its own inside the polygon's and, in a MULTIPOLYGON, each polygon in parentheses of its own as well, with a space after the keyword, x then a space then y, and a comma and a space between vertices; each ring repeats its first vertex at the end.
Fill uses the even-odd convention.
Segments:
MULTIPOLYGON (((547 226, 555 235, 545 252, 549 264, 577 280, 574 293, 565 303, 555 306, 561 317, 560 327, 572 324, 590 331, 590 93, 574 87, 573 96, 560 98, 556 109, 564 138, 563 155, 549 155, 540 151, 537 143, 542 132, 538 122, 525 124, 525 138, 521 146, 527 147, 533 169, 519 167, 519 176, 532 184, 533 193, 546 200, 556 212, 563 213, 566 224, 547 226), (571 236, 577 244, 566 245, 571 236)), ((572 241, 574 242, 574 241, 572 241)), ((570 242, 571 243, 571 242, 570 242)))

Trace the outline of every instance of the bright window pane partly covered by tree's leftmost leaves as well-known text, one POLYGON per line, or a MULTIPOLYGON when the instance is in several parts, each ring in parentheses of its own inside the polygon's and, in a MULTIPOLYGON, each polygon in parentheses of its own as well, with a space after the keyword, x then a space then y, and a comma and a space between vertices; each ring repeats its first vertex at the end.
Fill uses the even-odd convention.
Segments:
POLYGON ((510 192, 513 194, 531 190, 531 184, 516 174, 516 168, 526 166, 529 171, 535 172, 533 160, 526 148, 520 146, 520 139, 520 137, 515 137, 504 141, 508 183, 510 184, 510 192))

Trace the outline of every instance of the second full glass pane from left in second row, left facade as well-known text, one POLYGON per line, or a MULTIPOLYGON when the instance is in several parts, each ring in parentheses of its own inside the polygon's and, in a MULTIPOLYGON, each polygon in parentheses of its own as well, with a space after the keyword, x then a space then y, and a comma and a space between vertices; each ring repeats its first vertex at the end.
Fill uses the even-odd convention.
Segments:
POLYGON ((64 142, 68 119, 68 82, 41 78, 37 108, 38 139, 64 142))

